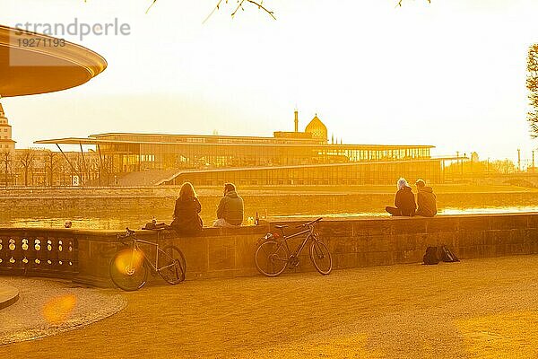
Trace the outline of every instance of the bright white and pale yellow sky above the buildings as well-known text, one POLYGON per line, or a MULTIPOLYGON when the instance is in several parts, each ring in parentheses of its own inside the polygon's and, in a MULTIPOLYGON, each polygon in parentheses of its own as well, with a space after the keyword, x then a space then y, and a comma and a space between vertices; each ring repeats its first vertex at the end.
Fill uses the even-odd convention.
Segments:
MULTIPOLYGON (((535 0, 266 0, 273 21, 216 0, 0 0, 0 23, 128 23, 65 39, 108 69, 65 92, 4 99, 17 147, 105 132, 272 136, 317 113, 355 144, 433 144, 434 155, 524 159, 535 0)), ((39 81, 39 79, 36 79, 39 81)))

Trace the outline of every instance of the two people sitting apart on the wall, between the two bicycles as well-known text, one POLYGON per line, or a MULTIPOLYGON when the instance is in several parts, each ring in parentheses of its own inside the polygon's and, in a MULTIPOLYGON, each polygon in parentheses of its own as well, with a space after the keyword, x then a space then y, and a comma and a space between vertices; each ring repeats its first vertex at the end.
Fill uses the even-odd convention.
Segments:
MULTIPOLYGON (((196 196, 195 188, 185 182, 179 190, 174 207, 174 220, 170 226, 179 234, 195 235, 202 232, 204 222, 200 218, 202 205, 196 196)), ((239 197, 232 183, 224 185, 224 197, 217 208, 217 220, 213 227, 237 227, 243 223, 243 198, 239 197)))

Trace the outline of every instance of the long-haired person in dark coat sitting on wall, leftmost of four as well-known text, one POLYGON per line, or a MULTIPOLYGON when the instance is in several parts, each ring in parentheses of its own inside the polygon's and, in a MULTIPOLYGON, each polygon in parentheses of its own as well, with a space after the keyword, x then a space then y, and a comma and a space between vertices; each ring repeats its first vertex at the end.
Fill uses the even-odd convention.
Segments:
POLYGON ((179 234, 198 234, 204 227, 199 215, 201 211, 202 205, 196 197, 195 188, 190 182, 185 182, 179 190, 179 197, 174 208, 174 220, 170 226, 179 234))

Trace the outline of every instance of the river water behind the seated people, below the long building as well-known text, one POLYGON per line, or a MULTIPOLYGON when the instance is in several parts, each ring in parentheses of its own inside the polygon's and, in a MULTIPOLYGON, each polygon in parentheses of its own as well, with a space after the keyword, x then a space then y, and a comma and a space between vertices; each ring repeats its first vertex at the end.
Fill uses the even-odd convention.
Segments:
MULTIPOLYGON (((205 225, 211 225, 220 197, 200 197, 205 225)), ((245 216, 278 220, 284 217, 387 216, 392 194, 247 195, 245 216)), ((141 228, 155 217, 171 222, 174 197, 48 197, 0 199, 0 225, 7 227, 64 226, 123 230, 141 228)), ((538 212, 534 192, 438 194, 438 215, 538 212)))

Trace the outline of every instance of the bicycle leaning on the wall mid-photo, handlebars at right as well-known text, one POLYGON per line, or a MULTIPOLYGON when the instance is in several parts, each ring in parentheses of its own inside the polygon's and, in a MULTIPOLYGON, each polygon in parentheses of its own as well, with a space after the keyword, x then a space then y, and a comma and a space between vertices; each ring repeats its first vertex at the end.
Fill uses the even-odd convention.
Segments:
POLYGON ((279 233, 267 233, 260 241, 255 255, 256 268, 264 276, 279 276, 286 266, 294 268, 299 266, 300 252, 305 248, 308 241, 310 244, 310 260, 317 271, 326 276, 333 269, 333 258, 331 252, 319 239, 317 232, 314 232, 314 226, 323 218, 300 224, 296 228, 305 228, 289 236, 284 234, 284 228, 288 225, 275 225, 275 228, 281 230, 279 233), (305 239, 299 243, 297 249, 293 252, 290 250, 288 240, 294 237, 305 235, 305 239))

